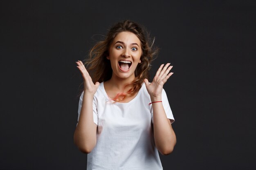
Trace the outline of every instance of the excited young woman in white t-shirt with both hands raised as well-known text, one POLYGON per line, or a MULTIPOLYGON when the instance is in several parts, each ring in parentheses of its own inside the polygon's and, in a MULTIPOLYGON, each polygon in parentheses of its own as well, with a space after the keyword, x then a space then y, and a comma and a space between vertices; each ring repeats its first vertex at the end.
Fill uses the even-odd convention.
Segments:
POLYGON ((162 64, 149 83, 153 49, 145 31, 125 20, 76 62, 84 81, 74 143, 88 153, 87 170, 162 170, 173 151, 174 121, 164 83, 173 74, 162 64))

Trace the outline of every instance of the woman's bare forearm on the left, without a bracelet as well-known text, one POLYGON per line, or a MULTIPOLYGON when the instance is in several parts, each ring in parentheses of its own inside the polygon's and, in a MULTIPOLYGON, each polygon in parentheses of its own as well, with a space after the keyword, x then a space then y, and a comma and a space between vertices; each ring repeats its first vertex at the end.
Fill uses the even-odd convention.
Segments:
POLYGON ((93 122, 92 95, 83 95, 80 117, 74 132, 74 143, 84 153, 90 153, 96 145, 97 125, 93 122))

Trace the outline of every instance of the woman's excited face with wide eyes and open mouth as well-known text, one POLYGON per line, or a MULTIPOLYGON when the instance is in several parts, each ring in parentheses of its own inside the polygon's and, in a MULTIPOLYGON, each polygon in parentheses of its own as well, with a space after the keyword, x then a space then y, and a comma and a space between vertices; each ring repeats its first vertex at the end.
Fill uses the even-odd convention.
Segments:
POLYGON ((141 53, 141 42, 134 33, 124 31, 117 34, 110 45, 107 57, 112 67, 112 77, 132 81, 135 78, 135 69, 141 62, 141 53))

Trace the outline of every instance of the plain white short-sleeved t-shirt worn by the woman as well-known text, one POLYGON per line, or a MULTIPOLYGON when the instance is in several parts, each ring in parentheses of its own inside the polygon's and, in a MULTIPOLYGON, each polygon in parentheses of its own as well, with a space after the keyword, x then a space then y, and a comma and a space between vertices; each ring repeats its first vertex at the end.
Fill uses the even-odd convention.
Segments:
MULTIPOLYGON (((78 109, 81 111, 83 93, 78 109)), ((153 136, 153 109, 143 83, 128 103, 112 102, 103 82, 93 98, 93 121, 97 124, 97 144, 88 154, 87 170, 162 170, 153 136)), ((165 91, 162 104, 166 117, 174 122, 165 91)))

